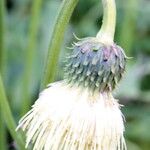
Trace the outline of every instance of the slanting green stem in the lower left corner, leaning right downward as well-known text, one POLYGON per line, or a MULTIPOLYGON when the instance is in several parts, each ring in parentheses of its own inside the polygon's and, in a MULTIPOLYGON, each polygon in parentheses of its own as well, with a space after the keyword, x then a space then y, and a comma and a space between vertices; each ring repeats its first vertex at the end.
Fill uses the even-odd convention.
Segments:
POLYGON ((6 94, 5 94, 4 85, 2 82, 1 75, 0 75, 0 110, 2 112, 3 118, 5 119, 6 126, 9 130, 11 136, 16 141, 19 149, 25 150, 23 140, 18 135, 18 133, 15 131, 16 124, 15 124, 15 121, 13 119, 8 100, 6 98, 6 94))

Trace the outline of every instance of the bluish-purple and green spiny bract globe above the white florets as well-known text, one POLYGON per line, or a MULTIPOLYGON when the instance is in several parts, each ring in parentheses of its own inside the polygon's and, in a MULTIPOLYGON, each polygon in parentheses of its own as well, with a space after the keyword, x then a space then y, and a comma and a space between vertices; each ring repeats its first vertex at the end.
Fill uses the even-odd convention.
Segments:
POLYGON ((97 38, 82 39, 73 49, 65 67, 67 82, 92 91, 112 91, 125 71, 127 57, 123 49, 100 43, 97 38))

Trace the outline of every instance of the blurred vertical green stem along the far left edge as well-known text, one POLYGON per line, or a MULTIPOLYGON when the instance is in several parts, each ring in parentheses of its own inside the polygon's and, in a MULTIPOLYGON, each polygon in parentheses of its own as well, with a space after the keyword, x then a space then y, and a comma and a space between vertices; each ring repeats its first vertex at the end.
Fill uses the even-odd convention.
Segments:
MULTIPOLYGON (((5 2, 4 0, 0 0, 0 71, 2 74, 4 74, 4 33, 5 33, 5 2)), ((0 110, 0 149, 1 150, 6 150, 7 149, 7 134, 6 134, 6 128, 5 124, 3 121, 3 116, 2 116, 2 111, 0 110)))

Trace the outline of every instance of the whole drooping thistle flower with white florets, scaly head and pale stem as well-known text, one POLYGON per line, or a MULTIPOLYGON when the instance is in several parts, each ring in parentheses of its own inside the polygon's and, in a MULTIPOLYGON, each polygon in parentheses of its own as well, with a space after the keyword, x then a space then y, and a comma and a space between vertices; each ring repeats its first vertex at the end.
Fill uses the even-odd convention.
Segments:
POLYGON ((113 42, 115 1, 103 4, 107 13, 100 32, 74 43, 64 80, 50 84, 20 120, 17 130, 26 132, 26 147, 33 143, 33 150, 126 149, 123 115, 111 93, 127 57, 113 42))

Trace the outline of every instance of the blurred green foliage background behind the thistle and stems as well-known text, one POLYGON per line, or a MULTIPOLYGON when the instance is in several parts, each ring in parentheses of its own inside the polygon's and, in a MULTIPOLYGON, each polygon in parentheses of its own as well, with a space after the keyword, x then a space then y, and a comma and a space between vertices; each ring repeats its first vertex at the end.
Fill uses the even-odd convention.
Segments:
MULTIPOLYGON (((55 17, 61 4, 61 0, 43 0, 38 8, 38 18, 35 20, 38 32, 30 35, 33 1, 5 1, 5 50, 2 77, 16 122, 28 109, 24 108, 23 100, 27 99, 24 87, 30 89, 28 106, 31 106, 38 97, 44 61, 47 57, 55 17), (30 45, 31 36, 35 37, 36 41, 35 44, 30 45), (34 52, 27 55, 31 48, 34 52), (28 57, 32 55, 34 56, 30 62, 28 57), (30 81, 24 79, 27 63, 31 67, 30 81)), ((128 60, 124 79, 114 91, 114 95, 124 105, 122 111, 126 118, 125 137, 128 150, 150 150, 150 1, 116 0, 116 3, 115 42, 124 48, 127 56, 133 58, 128 60)), ((66 47, 71 46, 75 40, 73 33, 79 38, 95 36, 101 22, 100 0, 80 0, 65 33, 56 80, 63 79, 62 67, 65 56, 71 52, 66 47)), ((0 124, 1 122, 3 119, 0 120, 0 124)), ((5 149, 15 149, 15 143, 8 131, 6 131, 6 143, 5 149)))

